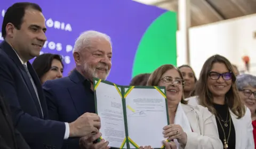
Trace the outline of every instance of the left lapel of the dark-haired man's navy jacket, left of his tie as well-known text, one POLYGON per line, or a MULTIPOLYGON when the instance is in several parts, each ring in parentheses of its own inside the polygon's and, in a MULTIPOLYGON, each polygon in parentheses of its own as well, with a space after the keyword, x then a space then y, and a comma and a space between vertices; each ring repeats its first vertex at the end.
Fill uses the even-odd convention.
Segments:
POLYGON ((21 73, 21 77, 23 78, 23 80, 25 81, 25 84, 28 88, 28 91, 31 95, 31 97, 33 98, 35 105, 37 107, 37 111, 38 114, 40 115, 41 118, 43 118, 42 112, 41 112, 41 108, 39 106, 38 100, 37 100, 37 96, 35 93, 35 89, 28 77, 28 74, 25 70, 25 68, 23 67, 18 55, 14 52, 14 49, 5 41, 1 43, 0 47, 3 49, 3 51, 10 57, 10 59, 15 63, 15 65, 17 66, 18 70, 21 73))

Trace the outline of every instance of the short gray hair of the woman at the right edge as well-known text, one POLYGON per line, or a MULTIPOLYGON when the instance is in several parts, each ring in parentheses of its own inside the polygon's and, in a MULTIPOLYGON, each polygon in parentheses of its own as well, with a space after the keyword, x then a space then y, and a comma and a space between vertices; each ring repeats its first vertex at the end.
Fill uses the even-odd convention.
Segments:
POLYGON ((243 90, 248 86, 256 88, 256 76, 252 76, 251 74, 238 75, 236 77, 236 85, 238 90, 243 90))

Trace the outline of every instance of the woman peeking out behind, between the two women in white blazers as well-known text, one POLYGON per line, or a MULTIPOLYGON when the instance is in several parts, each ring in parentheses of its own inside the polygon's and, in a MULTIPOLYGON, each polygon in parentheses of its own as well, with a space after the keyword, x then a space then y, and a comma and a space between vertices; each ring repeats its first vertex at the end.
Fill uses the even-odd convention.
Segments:
POLYGON ((197 79, 194 70, 189 65, 181 65, 179 69, 186 82, 183 91, 184 97, 188 98, 191 96, 195 96, 194 89, 197 79))

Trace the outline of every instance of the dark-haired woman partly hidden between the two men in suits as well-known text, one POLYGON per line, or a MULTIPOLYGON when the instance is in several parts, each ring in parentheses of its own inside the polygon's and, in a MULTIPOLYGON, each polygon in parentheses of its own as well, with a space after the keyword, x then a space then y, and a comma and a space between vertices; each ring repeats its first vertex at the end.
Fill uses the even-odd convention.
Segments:
POLYGON ((36 57, 32 65, 41 80, 41 84, 47 80, 62 78, 64 65, 58 54, 41 54, 36 57))

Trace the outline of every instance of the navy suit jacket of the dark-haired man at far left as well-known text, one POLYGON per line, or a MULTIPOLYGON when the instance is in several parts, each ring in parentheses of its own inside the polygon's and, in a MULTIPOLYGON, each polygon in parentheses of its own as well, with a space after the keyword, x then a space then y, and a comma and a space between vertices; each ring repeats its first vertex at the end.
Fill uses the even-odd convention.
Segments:
POLYGON ((9 101, 14 126, 33 149, 61 148, 65 123, 46 120, 48 110, 41 83, 29 62, 27 67, 37 87, 44 117, 18 55, 8 43, 0 44, 0 90, 9 101))

